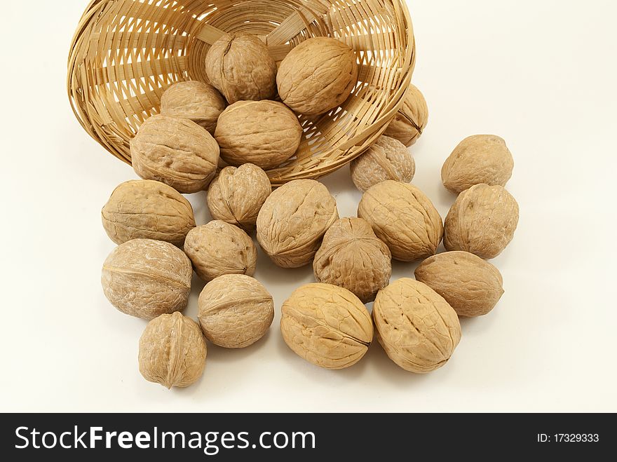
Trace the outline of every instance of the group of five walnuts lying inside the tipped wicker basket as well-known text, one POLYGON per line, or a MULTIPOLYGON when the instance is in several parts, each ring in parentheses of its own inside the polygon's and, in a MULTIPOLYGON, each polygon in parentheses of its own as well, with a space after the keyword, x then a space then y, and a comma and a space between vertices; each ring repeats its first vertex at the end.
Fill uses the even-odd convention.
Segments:
POLYGON ((282 165, 304 133, 297 114, 325 114, 358 85, 355 53, 327 37, 302 42, 277 69, 256 36, 224 35, 208 51, 205 67, 210 84, 168 88, 161 114, 149 118, 130 143, 137 174, 181 193, 206 189, 219 159, 264 170, 282 165), (282 102, 273 100, 276 95, 282 102))

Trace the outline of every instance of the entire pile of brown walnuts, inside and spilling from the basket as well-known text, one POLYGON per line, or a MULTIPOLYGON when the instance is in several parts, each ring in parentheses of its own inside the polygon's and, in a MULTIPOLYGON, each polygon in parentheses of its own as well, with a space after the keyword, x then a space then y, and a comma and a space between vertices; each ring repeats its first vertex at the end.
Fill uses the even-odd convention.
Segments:
POLYGON ((144 378, 189 386, 203 374, 206 340, 245 348, 266 335, 275 307, 252 277, 253 233, 277 266, 313 264, 317 283, 285 301, 280 330, 292 351, 328 369, 358 362, 374 337, 403 369, 438 369, 461 339, 459 315, 486 314, 499 301, 501 274, 484 259, 501 253, 517 226, 518 206, 503 189, 512 156, 499 137, 463 141, 442 172, 447 189, 461 193, 444 224, 410 184, 407 147, 428 121, 414 86, 384 135, 351 163, 363 192, 358 217, 339 217, 315 180, 272 190, 264 170, 294 156, 304 133, 298 114, 342 104, 358 84, 357 62, 344 43, 318 37, 277 69, 255 36, 226 35, 206 57, 210 83, 171 86, 161 114, 142 124, 130 143, 142 179, 118 186, 102 210, 118 244, 102 286, 119 311, 149 320, 140 339, 144 378), (204 190, 214 220, 198 226, 182 194, 204 190), (442 241, 450 252, 436 254, 442 241), (416 280, 391 284, 392 259, 423 260, 416 280), (198 322, 181 313, 194 272, 205 283, 198 322), (365 304, 373 301, 371 315, 365 304))

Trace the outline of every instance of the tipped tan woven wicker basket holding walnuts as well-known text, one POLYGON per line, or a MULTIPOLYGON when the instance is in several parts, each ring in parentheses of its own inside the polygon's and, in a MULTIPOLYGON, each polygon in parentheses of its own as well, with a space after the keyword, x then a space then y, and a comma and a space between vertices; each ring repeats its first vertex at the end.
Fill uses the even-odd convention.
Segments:
POLYGON ((224 32, 257 34, 278 62, 311 36, 335 37, 358 55, 353 95, 329 114, 300 118, 297 156, 268 172, 276 186, 321 177, 365 151, 400 108, 414 70, 401 0, 93 0, 69 56, 69 98, 81 125, 130 163, 129 141, 158 113, 163 91, 208 81, 204 58, 224 32))

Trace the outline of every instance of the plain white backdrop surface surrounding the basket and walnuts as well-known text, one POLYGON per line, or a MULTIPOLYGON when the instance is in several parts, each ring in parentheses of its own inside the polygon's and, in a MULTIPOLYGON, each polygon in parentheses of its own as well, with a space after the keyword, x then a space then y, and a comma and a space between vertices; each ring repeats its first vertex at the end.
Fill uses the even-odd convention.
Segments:
MULTIPOLYGON (((311 268, 260 256, 256 276, 277 309, 268 337, 242 351, 210 346, 203 379, 172 391, 142 379, 145 322, 100 287, 114 248, 100 209, 135 174, 69 109, 68 47, 88 2, 4 3, 1 411, 617 411, 615 2, 409 1, 414 82, 430 107, 414 183, 445 217, 454 196, 442 163, 463 137, 494 133, 515 156, 508 190, 521 208, 515 240, 493 261, 506 294, 491 315, 462 322, 446 367, 410 374, 377 343, 351 369, 309 365, 285 346, 278 310, 311 268)), ((348 170, 324 181, 341 216, 355 215, 348 170)), ((203 224, 205 193, 191 202, 203 224)), ((413 270, 395 264, 393 276, 413 270)))

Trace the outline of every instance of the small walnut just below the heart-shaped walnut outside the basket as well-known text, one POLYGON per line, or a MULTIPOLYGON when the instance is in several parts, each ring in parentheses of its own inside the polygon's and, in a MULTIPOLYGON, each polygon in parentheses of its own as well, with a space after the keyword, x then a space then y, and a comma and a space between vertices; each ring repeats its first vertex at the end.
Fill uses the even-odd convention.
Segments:
POLYGON ((233 224, 215 220, 192 229, 184 252, 205 282, 224 274, 255 274, 257 247, 247 233, 233 224))

